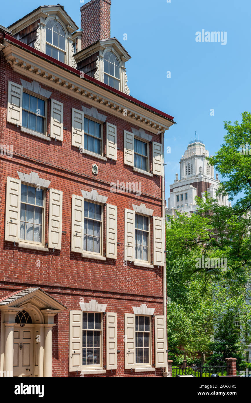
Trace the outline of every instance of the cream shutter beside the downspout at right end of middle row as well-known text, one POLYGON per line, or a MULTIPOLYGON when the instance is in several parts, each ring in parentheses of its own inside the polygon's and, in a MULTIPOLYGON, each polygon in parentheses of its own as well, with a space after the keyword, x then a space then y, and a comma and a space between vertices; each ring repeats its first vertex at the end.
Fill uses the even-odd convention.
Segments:
POLYGON ((164 218, 153 217, 153 264, 164 266, 165 232, 164 218))

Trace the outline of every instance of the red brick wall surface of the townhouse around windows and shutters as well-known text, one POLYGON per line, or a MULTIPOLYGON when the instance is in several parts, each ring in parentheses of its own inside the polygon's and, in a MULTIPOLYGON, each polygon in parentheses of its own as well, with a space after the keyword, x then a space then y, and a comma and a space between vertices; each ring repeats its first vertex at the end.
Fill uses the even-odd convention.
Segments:
MULTIPOLYGON (((68 340, 69 340, 69 310, 80 309, 80 297, 84 301, 97 299, 99 303, 107 303, 107 312, 117 312, 118 332, 118 370, 117 376, 142 376, 144 374, 124 371, 124 314, 132 313, 132 306, 146 303, 155 307, 155 314, 163 313, 162 268, 141 268, 129 264, 123 266, 124 256, 124 209, 132 209, 132 204, 146 204, 154 210, 154 215, 161 216, 161 181, 159 177, 148 177, 133 172, 132 168, 123 164, 123 130, 131 131, 132 126, 121 118, 111 114, 107 121, 117 126, 117 161, 102 161, 86 154, 80 154, 76 147, 71 146, 72 108, 82 109, 87 106, 70 98, 59 91, 41 85, 52 91, 51 98, 64 104, 64 141, 45 141, 21 132, 20 128, 6 123, 8 80, 21 83, 9 64, 1 62, 0 89, 0 140, 3 144, 13 145, 13 158, 1 156, 2 180, 0 181, 0 299, 17 289, 41 287, 52 297, 68 307, 55 317, 56 326, 53 328, 53 376, 69 376, 68 374, 68 340), (96 162, 99 173, 94 176, 92 164, 96 162), (62 249, 49 252, 34 251, 14 247, 14 243, 4 241, 5 192, 7 176, 18 178, 17 171, 37 172, 40 177, 51 181, 50 187, 63 191, 63 220, 62 220, 62 249), (110 183, 141 182, 142 195, 126 193, 111 193, 110 183), (70 251, 71 239, 71 200, 72 194, 81 195, 80 190, 97 189, 101 195, 108 197, 107 203, 118 206, 118 245, 117 260, 107 259, 106 262, 82 258, 78 253, 70 251), (40 267, 36 266, 37 259, 40 267)), ((50 105, 48 103, 47 113, 50 105)), ((49 118, 47 132, 49 133, 49 118)), ((150 135, 152 133, 149 132, 150 135)), ((160 141, 158 135, 152 135, 152 141, 160 141)), ((105 139, 105 125, 103 138, 105 139)), ((151 149, 151 146, 150 146, 151 149)), ((105 140, 104 140, 105 153, 105 140)), ((152 153, 150 151, 150 161, 152 153)), ((48 196, 46 196, 45 243, 47 242, 48 196)), ((151 225, 152 231, 152 225, 151 225)), ((104 226, 105 233, 105 226, 104 226)), ((105 245, 105 239, 104 239, 105 245)), ((104 246, 105 248, 105 246, 104 246)), ((152 247, 151 247, 152 261, 152 247)), ((152 336, 154 332, 152 329, 152 336)), ((153 340, 153 337, 152 337, 153 340)), ((152 345, 152 354, 154 346, 152 345)), ((105 365, 105 343, 103 365, 105 365)), ((152 362, 155 362, 154 357, 152 362)), ((107 372, 107 376, 111 372, 107 372)), ((114 371, 113 371, 114 374, 114 371)), ((74 375, 70 373, 70 376, 74 375)), ((76 374, 75 374, 76 375, 76 374)), ((160 370, 147 373, 146 376, 162 376, 160 370)))

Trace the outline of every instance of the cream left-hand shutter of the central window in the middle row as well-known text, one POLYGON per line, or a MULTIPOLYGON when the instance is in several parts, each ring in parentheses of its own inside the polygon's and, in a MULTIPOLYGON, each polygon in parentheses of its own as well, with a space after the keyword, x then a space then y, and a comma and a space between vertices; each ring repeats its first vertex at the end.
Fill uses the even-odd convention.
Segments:
POLYGON ((84 197, 72 195, 72 252, 84 253, 84 197))

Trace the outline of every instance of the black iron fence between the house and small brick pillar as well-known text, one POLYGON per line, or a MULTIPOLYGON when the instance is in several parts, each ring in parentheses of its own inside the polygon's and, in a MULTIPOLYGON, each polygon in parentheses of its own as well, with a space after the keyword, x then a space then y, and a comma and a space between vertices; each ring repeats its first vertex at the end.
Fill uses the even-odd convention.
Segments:
POLYGON ((204 365, 203 367, 193 364, 192 366, 181 367, 172 366, 172 376, 176 375, 194 375, 198 378, 210 377, 212 374, 218 374, 219 376, 227 376, 226 364, 217 365, 204 365))

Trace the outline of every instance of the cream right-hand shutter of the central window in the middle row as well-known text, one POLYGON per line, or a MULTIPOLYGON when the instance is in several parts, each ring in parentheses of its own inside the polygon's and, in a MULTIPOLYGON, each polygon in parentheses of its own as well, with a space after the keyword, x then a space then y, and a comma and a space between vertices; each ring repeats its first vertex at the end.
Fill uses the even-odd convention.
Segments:
POLYGON ((117 259, 117 206, 106 206, 106 257, 117 259))

